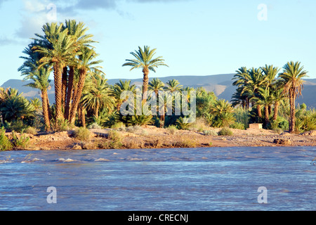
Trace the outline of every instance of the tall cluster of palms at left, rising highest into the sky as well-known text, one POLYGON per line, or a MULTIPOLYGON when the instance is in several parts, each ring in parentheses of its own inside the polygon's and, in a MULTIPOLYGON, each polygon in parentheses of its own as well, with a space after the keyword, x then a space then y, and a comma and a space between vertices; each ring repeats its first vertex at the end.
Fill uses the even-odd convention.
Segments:
POLYGON ((63 23, 46 23, 42 27, 43 35, 37 38, 23 51, 25 62, 18 69, 29 84, 41 90, 43 115, 46 130, 51 130, 51 120, 68 120, 74 123, 77 108, 81 101, 86 77, 89 73, 100 72, 101 60, 91 46, 93 35, 86 34, 84 23, 66 20, 63 23), (49 76, 53 72, 55 86, 55 115, 49 107, 47 91, 50 88, 49 76))

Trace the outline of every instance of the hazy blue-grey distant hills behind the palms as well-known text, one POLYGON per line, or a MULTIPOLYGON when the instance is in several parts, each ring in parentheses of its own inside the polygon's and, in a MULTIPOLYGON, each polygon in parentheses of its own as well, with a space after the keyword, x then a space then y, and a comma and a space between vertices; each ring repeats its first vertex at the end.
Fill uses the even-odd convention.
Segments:
MULTIPOLYGON (((232 77, 234 74, 224 74, 224 75, 210 75, 210 76, 171 76, 171 77, 159 77, 162 82, 166 83, 171 79, 177 79, 183 86, 192 86, 194 88, 204 87, 207 91, 213 91, 218 98, 223 98, 228 101, 231 100, 232 94, 236 90, 236 86, 232 86, 232 77)), ((154 77, 150 77, 152 80, 154 77)), ((121 79, 126 80, 126 79, 121 79)), ((119 79, 109 79, 108 83, 113 85, 119 82, 119 79)), ((142 84, 143 79, 131 79, 132 84, 142 84)), ((4 87, 11 87, 18 89, 23 96, 27 98, 41 98, 40 91, 37 89, 32 89, 25 86, 28 82, 22 81, 20 79, 9 79, 7 82, 2 84, 4 87)), ((54 87, 53 82, 51 90, 48 91, 48 98, 50 103, 54 100, 54 87)), ((303 96, 300 96, 296 102, 305 103, 308 108, 316 108, 316 79, 305 79, 304 89, 302 92, 303 96)))

